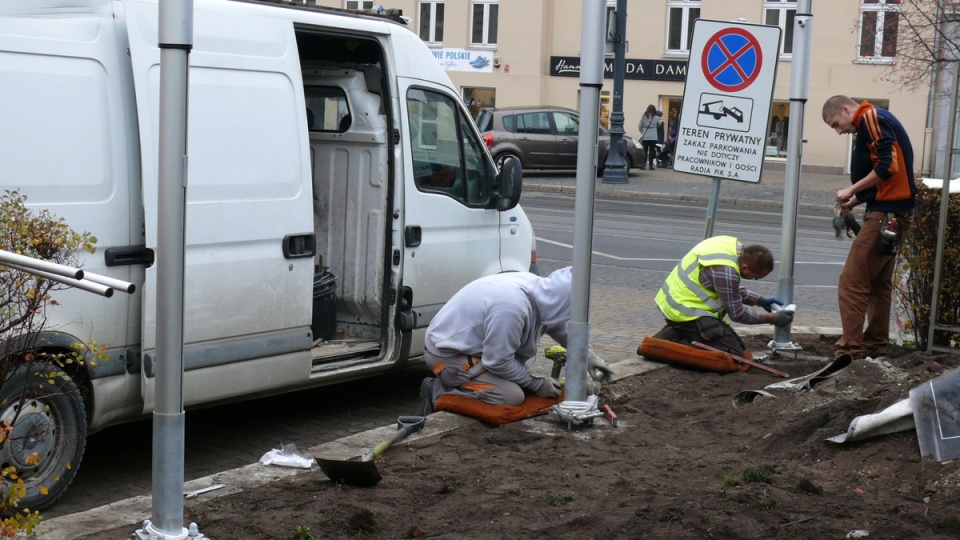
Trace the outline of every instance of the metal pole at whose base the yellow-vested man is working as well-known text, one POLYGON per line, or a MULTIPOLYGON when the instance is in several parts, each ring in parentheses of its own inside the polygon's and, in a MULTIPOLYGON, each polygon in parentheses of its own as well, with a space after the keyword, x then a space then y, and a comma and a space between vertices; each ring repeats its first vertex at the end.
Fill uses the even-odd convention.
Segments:
MULTIPOLYGON (((777 297, 793 303, 793 266, 797 243, 797 206, 800 199, 800 162, 803 157, 804 108, 810 74, 810 43, 813 36, 812 0, 797 2, 793 23, 793 71, 790 76, 790 126, 787 134, 787 170, 783 187, 783 227, 780 237, 780 281, 777 297)), ((790 326, 775 327, 776 348, 795 349, 790 326)))

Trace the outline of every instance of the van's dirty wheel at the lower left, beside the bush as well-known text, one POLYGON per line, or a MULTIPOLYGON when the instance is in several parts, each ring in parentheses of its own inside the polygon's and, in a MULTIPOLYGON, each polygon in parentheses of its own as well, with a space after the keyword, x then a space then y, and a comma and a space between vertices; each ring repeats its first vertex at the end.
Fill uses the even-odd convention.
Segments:
MULTIPOLYGON (((73 481, 86 447, 86 412, 77 385, 50 364, 20 366, 0 388, 0 425, 12 426, 0 444, 0 467, 14 467, 26 491, 19 507, 8 511, 48 508, 73 481)), ((4 478, 4 493, 9 487, 4 478)))

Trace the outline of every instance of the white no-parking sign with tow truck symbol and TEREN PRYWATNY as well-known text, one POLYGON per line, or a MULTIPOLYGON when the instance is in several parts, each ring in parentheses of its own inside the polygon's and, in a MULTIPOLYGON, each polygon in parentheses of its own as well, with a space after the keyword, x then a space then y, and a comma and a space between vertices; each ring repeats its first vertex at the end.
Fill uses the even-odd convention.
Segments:
POLYGON ((697 20, 673 169, 759 182, 780 28, 697 20))

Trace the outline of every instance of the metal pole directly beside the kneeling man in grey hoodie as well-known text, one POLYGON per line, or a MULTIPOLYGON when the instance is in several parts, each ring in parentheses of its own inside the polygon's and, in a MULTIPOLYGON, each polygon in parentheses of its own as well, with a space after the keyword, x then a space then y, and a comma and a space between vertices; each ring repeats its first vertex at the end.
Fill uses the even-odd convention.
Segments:
POLYGON ((577 146, 577 197, 573 209, 573 298, 567 328, 566 399, 587 397, 590 326, 590 265, 597 180, 597 126, 603 87, 603 26, 606 2, 583 0, 580 43, 580 141, 577 146))

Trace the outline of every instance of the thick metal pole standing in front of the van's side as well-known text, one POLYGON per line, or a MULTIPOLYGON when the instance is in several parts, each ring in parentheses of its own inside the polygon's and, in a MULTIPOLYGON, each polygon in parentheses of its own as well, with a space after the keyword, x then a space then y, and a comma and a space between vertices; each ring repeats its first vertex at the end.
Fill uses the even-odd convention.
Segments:
MULTIPOLYGON (((187 86, 193 0, 159 2, 160 133, 157 196, 157 374, 153 411, 153 520, 136 534, 181 540, 183 527, 183 275, 187 86)), ((196 532, 192 526, 192 532, 196 532)), ((196 537, 196 535, 194 535, 196 537)))

